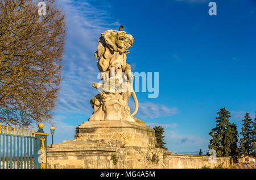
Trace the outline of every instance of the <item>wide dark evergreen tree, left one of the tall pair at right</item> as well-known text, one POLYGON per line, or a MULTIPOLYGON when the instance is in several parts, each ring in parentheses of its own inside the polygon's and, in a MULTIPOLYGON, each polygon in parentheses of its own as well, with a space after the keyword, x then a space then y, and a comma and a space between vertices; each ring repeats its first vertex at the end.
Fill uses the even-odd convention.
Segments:
POLYGON ((228 156, 228 154, 231 152, 231 145, 229 140, 232 137, 232 130, 228 129, 228 127, 230 127, 230 112, 227 111, 224 107, 221 108, 220 112, 217 112, 217 114, 219 116, 216 118, 216 127, 213 128, 211 132, 209 132, 209 135, 212 137, 212 139, 210 140, 208 147, 209 149, 216 150, 218 157, 228 156))

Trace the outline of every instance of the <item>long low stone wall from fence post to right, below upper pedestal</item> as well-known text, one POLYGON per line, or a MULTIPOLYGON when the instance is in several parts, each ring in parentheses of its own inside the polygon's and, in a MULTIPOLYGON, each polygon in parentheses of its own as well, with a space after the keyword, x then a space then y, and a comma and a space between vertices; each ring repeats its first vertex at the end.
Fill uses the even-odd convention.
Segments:
POLYGON ((141 147, 127 148, 85 148, 77 151, 64 149, 62 152, 47 153, 47 167, 51 168, 97 168, 97 169, 196 169, 203 166, 214 168, 223 163, 229 168, 229 158, 216 158, 216 164, 209 163, 208 156, 172 154, 163 149, 141 147), (113 154, 117 163, 114 164, 113 154))

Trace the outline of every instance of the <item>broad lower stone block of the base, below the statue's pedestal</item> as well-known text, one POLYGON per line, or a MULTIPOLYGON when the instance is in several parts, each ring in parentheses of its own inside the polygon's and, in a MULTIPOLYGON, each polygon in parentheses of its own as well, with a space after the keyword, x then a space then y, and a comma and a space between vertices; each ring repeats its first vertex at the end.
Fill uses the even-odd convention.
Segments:
POLYGON ((164 168, 163 149, 138 146, 117 148, 118 142, 71 140, 53 144, 52 147, 48 145, 47 168, 164 168), (108 143, 112 147, 108 146, 108 143))

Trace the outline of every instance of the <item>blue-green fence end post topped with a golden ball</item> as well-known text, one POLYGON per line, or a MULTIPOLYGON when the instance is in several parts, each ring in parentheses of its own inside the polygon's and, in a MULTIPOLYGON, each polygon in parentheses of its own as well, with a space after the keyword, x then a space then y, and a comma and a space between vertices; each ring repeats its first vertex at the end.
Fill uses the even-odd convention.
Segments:
POLYGON ((47 136, 43 130, 44 125, 38 124, 38 131, 34 132, 35 143, 34 143, 34 169, 46 169, 46 147, 47 147, 47 136))

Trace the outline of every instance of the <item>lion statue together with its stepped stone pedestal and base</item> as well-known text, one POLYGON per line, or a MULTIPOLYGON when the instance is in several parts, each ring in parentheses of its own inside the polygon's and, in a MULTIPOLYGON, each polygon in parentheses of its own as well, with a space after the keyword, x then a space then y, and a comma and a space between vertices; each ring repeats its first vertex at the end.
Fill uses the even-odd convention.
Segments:
POLYGON ((119 31, 101 34, 94 54, 101 82, 92 85, 100 91, 90 100, 93 114, 89 121, 76 127, 74 140, 53 144, 47 149, 49 168, 169 167, 166 165, 171 162, 170 153, 155 147, 154 129, 134 118, 138 100, 133 90, 131 66, 126 63, 133 43, 133 36, 126 34, 123 26, 119 31), (131 96, 135 102, 132 114, 127 104, 131 96), (118 160, 115 164, 113 154, 118 160))

